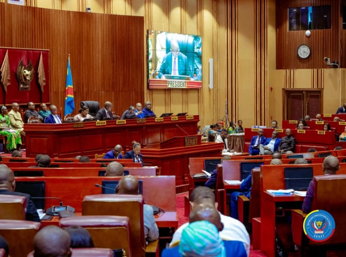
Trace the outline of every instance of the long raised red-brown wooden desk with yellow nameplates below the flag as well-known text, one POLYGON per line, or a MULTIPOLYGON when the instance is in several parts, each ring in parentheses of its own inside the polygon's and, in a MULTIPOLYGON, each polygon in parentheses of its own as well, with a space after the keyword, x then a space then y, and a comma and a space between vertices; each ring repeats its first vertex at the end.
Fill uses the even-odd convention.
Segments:
POLYGON ((194 135, 198 121, 199 115, 108 120, 102 121, 102 125, 97 125, 96 121, 25 124, 26 157, 37 154, 48 154, 51 158, 92 156, 106 153, 117 144, 124 150, 131 149, 134 140, 142 145, 142 149, 160 147, 160 143, 169 138, 186 136, 186 133, 194 135))

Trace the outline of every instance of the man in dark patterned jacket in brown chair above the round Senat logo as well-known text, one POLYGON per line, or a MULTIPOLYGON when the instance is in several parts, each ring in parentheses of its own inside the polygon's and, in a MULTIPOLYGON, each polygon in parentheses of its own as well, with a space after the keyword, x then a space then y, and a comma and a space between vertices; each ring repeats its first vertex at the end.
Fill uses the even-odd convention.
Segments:
MULTIPOLYGON (((339 160, 335 156, 330 155, 324 159, 322 170, 325 175, 335 175, 339 168, 339 160)), ((305 213, 309 213, 311 211, 314 190, 315 183, 313 182, 313 180, 311 180, 302 206, 302 211, 305 213)))

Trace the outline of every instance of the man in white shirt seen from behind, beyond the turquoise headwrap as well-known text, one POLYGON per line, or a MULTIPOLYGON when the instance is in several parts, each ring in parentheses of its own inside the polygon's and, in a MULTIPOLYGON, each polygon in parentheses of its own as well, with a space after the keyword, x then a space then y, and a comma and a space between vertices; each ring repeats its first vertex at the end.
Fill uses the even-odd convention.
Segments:
MULTIPOLYGON (((214 192, 206 186, 196 187, 190 195, 190 205, 191 209, 195 208, 195 206, 199 204, 208 204, 210 206, 214 206, 217 209, 218 203, 215 202, 215 194, 214 192)), ((221 222, 224 224, 224 229, 220 231, 220 237, 225 240, 234 240, 241 241, 244 244, 247 256, 249 256, 250 250, 250 237, 248 232, 245 229, 245 226, 239 220, 231 218, 229 216, 222 215, 220 213, 221 222)), ((185 223, 180 226, 173 235, 172 242, 170 243, 170 247, 176 244, 176 242, 180 241, 181 234, 184 228, 186 228, 189 223, 185 223)))

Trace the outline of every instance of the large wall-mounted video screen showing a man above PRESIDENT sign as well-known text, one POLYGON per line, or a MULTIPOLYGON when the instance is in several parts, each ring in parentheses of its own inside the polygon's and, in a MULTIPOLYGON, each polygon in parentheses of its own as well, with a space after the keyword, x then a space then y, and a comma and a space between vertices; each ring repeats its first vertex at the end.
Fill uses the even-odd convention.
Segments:
POLYGON ((198 35, 147 31, 149 89, 202 88, 202 39, 198 35))

